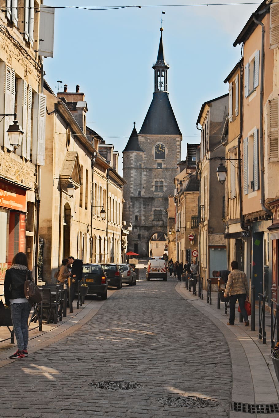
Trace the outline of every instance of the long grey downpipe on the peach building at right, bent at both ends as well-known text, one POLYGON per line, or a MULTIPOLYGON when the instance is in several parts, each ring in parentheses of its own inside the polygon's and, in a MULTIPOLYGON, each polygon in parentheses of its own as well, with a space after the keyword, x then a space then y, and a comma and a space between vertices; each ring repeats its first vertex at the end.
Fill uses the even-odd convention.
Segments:
POLYGON ((265 27, 264 23, 256 20, 253 16, 253 21, 257 25, 261 25, 261 92, 260 92, 260 158, 261 158, 261 208, 271 218, 272 213, 269 209, 264 206, 264 135, 263 135, 263 114, 264 114, 264 38, 265 38, 265 27))

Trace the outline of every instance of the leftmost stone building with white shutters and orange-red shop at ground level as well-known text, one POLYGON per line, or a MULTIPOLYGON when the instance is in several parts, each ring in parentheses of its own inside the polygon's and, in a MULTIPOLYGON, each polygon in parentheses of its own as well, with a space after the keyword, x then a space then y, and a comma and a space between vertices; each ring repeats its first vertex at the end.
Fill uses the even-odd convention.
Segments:
POLYGON ((41 58, 52 56, 51 50, 41 51, 41 40, 48 47, 50 38, 53 43, 53 25, 42 32, 46 18, 42 3, 0 0, 0 283, 17 252, 26 252, 35 280, 38 277, 46 118, 41 58), (10 144, 7 133, 13 120, 23 132, 18 148, 10 144))

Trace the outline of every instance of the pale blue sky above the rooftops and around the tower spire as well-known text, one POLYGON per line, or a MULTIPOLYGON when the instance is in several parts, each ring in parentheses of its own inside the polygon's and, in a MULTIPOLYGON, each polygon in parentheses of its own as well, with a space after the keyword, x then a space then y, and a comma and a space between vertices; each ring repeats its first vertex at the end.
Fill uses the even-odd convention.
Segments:
POLYGON ((55 7, 54 57, 43 61, 45 79, 55 93, 58 88, 63 91, 64 84, 68 92, 75 92, 79 84, 87 101, 86 124, 119 151, 120 174, 133 122, 139 131, 153 98, 152 66, 161 18, 164 56, 170 66, 169 99, 183 135, 183 160, 187 143, 200 142, 196 122, 202 104, 228 93, 223 80, 241 58, 240 46, 233 47, 233 42, 261 3, 142 1, 136 3, 141 8, 118 9, 129 6, 128 0, 44 1, 55 7), (82 9, 93 6, 101 10, 82 9), (110 7, 113 10, 104 10, 110 7))

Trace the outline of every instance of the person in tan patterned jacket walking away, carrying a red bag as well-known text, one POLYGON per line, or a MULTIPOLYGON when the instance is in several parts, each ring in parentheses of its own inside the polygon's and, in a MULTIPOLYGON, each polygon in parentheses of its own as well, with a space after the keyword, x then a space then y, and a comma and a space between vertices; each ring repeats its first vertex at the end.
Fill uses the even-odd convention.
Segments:
POLYGON ((227 325, 234 325, 235 303, 238 300, 245 326, 249 326, 248 314, 244 307, 246 296, 249 294, 247 277, 244 271, 238 270, 237 261, 232 261, 230 267, 232 271, 228 275, 228 282, 224 293, 225 298, 230 296, 230 321, 227 322, 227 325))

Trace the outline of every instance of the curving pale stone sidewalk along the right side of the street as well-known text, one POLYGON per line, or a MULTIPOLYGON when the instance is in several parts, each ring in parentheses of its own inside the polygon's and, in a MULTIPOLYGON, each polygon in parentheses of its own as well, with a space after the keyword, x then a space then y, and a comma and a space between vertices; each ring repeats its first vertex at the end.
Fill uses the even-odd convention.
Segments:
MULTIPOLYGON (((170 279, 171 280, 171 279, 170 279)), ((212 304, 207 303, 207 294, 204 291, 203 300, 194 296, 185 287, 185 282, 178 282, 176 291, 192 304, 196 309, 205 314, 223 332, 230 347, 230 355, 233 366, 233 393, 232 402, 251 404, 278 404, 279 382, 276 379, 274 367, 270 357, 270 340, 268 344, 262 344, 258 339, 258 321, 256 311, 256 331, 250 327, 244 327, 243 323, 235 322, 234 326, 228 326, 228 317, 224 314, 224 303, 217 309, 217 292, 211 293, 212 304)), ((237 313, 235 314, 237 319, 237 313)), ((270 333, 269 333, 270 334, 270 333)), ((231 418, 256 417, 252 413, 230 412, 231 418)), ((261 417, 270 414, 260 414, 261 417)), ((279 414, 271 414, 279 416, 279 414)))

